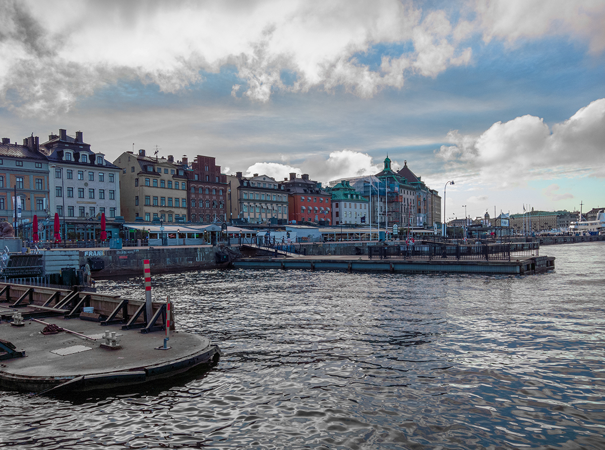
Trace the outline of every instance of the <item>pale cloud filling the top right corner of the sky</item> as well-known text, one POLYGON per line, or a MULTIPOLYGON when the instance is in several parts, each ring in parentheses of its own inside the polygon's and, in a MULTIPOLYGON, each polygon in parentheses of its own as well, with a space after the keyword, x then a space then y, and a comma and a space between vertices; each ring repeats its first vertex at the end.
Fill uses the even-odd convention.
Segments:
POLYGON ((592 53, 605 50, 605 2, 602 0, 476 0, 477 22, 486 42, 513 43, 545 35, 586 39, 592 53))

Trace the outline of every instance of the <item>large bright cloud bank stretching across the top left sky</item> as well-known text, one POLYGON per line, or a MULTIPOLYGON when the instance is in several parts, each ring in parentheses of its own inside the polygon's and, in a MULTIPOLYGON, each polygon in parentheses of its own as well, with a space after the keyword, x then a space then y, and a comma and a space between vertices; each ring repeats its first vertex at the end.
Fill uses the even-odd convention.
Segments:
POLYGON ((0 102, 22 115, 53 114, 119 80, 175 93, 203 73, 235 67, 232 96, 266 102, 276 91, 358 96, 401 88, 468 64, 468 23, 423 16, 411 2, 38 2, 0 4, 0 102), (387 45, 388 55, 374 55, 387 45), (379 64, 361 62, 374 56, 379 64), (283 71, 293 74, 285 84, 283 71))

